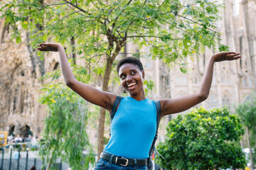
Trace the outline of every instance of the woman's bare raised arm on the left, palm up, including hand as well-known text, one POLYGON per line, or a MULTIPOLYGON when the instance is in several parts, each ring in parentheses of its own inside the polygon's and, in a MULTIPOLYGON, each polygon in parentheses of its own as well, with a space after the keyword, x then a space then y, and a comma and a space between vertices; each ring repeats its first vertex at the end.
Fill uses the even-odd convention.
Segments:
POLYGON ((110 111, 112 104, 114 103, 114 99, 117 96, 106 91, 100 91, 95 87, 88 84, 83 84, 75 79, 62 45, 57 43, 41 43, 38 44, 38 46, 39 47, 37 50, 40 51, 59 52, 61 71, 65 79, 65 84, 69 86, 70 89, 82 96, 82 98, 85 98, 86 101, 89 101, 97 106, 101 106, 102 108, 106 108, 108 111, 110 111))

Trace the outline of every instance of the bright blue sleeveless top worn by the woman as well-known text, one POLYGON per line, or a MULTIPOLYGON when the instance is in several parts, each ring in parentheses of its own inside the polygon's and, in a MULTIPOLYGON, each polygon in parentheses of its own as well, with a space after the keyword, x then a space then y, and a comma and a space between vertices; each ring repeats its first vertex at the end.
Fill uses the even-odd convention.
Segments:
POLYGON ((156 135, 156 105, 146 98, 122 98, 111 123, 110 142, 105 152, 119 157, 146 159, 156 135))

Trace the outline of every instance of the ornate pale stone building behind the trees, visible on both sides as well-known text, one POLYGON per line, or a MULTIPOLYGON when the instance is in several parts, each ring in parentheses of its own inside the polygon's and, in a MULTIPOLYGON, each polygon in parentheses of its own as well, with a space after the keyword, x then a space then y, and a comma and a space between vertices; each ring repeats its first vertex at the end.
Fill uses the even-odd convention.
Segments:
MULTIPOLYGON (((256 0, 224 0, 223 3, 223 21, 218 24, 221 43, 228 45, 230 51, 241 52, 242 60, 215 64, 210 96, 196 107, 210 109, 242 103, 250 91, 256 89, 256 0)), ((26 41, 25 34, 21 43, 11 41, 4 19, 1 19, 0 130, 14 135, 26 135, 31 131, 39 136, 46 116, 44 106, 38 103, 38 89, 43 84, 39 78, 58 67, 58 55, 41 61, 26 41)), ((136 51, 136 47, 127 45, 129 51, 136 51)), ((198 91, 211 54, 213 50, 206 49, 205 54, 193 60, 187 58, 190 68, 187 74, 182 74, 177 67, 169 69, 161 60, 143 58, 146 79, 155 82, 149 98, 176 98, 198 91)), ((161 126, 175 116, 166 117, 161 126)), ((164 128, 161 128, 161 133, 164 134, 164 128)))

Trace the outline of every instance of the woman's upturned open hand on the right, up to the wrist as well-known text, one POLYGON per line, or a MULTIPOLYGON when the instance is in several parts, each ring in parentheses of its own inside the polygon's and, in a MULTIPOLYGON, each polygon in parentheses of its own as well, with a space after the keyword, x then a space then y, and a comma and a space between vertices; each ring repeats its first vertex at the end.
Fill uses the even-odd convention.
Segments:
POLYGON ((239 52, 218 52, 211 56, 214 62, 222 62, 225 60, 238 60, 242 56, 239 52))

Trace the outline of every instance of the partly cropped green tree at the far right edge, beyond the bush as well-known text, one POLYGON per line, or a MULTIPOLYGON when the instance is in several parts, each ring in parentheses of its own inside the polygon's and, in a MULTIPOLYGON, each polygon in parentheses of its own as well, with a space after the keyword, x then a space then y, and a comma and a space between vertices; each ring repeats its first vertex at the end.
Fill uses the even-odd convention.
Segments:
MULTIPOLYGON (((255 92, 252 92, 247 97, 244 103, 241 103, 235 109, 235 112, 240 116, 243 125, 245 125, 247 144, 250 149, 250 169, 254 169, 254 154, 252 152, 252 146, 255 145, 255 138, 252 136, 256 134, 256 96, 255 92)), ((256 148, 256 147, 255 147, 256 148)))

